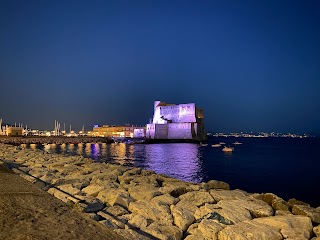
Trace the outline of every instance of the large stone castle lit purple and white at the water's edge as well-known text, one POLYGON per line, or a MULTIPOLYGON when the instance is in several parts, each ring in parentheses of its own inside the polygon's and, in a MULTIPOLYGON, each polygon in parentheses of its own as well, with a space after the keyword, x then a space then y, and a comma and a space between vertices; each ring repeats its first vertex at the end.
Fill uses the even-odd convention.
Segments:
POLYGON ((147 124, 147 139, 206 140, 203 110, 194 103, 154 102, 152 123, 147 124))

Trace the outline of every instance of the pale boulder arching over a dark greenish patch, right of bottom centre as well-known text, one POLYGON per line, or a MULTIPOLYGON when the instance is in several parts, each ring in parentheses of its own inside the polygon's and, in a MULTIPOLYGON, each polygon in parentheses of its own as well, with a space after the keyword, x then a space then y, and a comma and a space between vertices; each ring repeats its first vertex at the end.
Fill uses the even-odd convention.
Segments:
POLYGON ((219 214, 223 217, 221 220, 226 220, 227 223, 238 223, 252 219, 251 214, 247 209, 225 200, 220 201, 217 204, 205 204, 195 212, 194 217, 198 220, 206 218, 210 213, 219 214))

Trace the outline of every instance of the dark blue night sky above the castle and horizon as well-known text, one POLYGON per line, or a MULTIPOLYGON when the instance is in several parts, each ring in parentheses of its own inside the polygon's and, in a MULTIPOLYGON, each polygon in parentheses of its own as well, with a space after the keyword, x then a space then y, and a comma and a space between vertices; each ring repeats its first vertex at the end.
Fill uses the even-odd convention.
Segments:
POLYGON ((1 1, 0 118, 144 125, 195 102, 211 131, 319 132, 319 1, 1 1))

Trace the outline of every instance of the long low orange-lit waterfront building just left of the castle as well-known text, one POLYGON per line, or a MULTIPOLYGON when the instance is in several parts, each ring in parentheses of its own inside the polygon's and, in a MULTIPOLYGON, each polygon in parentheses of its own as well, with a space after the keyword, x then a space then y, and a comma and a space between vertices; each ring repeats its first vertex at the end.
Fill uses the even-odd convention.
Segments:
POLYGON ((132 125, 124 126, 95 126, 93 127, 93 136, 112 137, 112 138, 133 138, 144 137, 145 127, 137 127, 132 125))

